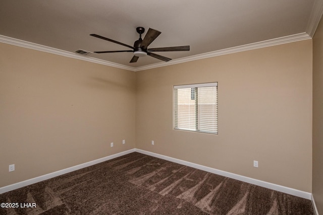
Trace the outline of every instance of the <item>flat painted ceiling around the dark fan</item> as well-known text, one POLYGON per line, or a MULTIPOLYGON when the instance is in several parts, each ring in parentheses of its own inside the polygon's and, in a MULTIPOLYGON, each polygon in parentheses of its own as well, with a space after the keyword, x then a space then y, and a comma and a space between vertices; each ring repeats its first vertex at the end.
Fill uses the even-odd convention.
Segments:
MULTIPOLYGON (((150 48, 190 45, 190 51, 154 52, 176 60, 277 38, 311 37, 321 14, 322 0, 1 0, 0 35, 78 55, 78 49, 128 50, 90 34, 132 46, 141 26, 145 33, 148 28, 161 32, 150 48)), ((145 56, 129 63, 132 56, 85 57, 133 68, 163 62, 145 56)))

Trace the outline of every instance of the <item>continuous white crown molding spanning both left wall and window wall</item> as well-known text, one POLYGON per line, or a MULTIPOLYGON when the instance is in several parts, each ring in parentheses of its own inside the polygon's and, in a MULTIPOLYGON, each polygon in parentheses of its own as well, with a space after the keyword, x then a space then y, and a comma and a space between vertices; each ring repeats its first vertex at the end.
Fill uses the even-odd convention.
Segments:
POLYGON ((236 52, 247 51, 247 50, 252 50, 252 49, 257 49, 257 48, 263 48, 263 47, 268 47, 268 46, 280 45, 280 44, 284 44, 284 43, 296 42, 296 41, 306 40, 306 39, 310 39, 310 38, 311 37, 307 33, 294 34, 294 35, 280 37, 280 38, 276 38, 276 39, 270 39, 270 40, 265 40, 265 41, 261 41, 261 42, 255 42, 255 43, 236 46, 236 47, 232 47, 232 48, 226 48, 226 49, 211 51, 211 52, 207 52, 207 53, 203 53, 203 54, 197 54, 197 55, 193 55, 193 56, 183 57, 183 58, 179 58, 179 59, 173 59, 168 62, 154 63, 154 64, 150 64, 150 65, 146 65, 146 66, 139 66, 139 67, 131 67, 131 66, 126 66, 126 65, 122 65, 122 64, 118 64, 118 63, 114 63, 114 62, 110 62, 110 61, 106 61, 106 60, 101 60, 101 59, 97 59, 97 58, 93 58, 93 57, 89 57, 89 56, 82 56, 77 53, 64 51, 64 50, 57 49, 57 48, 51 48, 48 46, 39 45, 36 43, 31 43, 31 42, 27 42, 27 41, 15 39, 15 38, 3 36, 3 35, 0 35, 0 42, 11 44, 11 45, 16 45, 16 46, 21 46, 21 47, 25 47, 25 48, 30 48, 30 49, 34 49, 34 50, 38 50, 38 51, 44 51, 44 52, 48 52, 48 53, 52 53, 52 54, 58 54, 58 55, 71 57, 71 58, 75 58, 75 59, 85 60, 85 61, 89 61, 89 62, 94 62, 94 63, 98 63, 98 64, 103 64, 103 65, 107 65, 107 66, 122 68, 122 69, 130 70, 130 71, 141 71, 141 70, 146 70, 146 69, 151 69, 151 68, 157 68, 157 67, 163 67, 163 66, 167 66, 167 65, 174 65, 174 64, 178 64, 178 63, 189 62, 189 61, 193 61, 193 60, 200 60, 200 59, 209 58, 209 57, 216 57, 216 56, 225 55, 225 54, 232 54, 232 53, 236 53, 236 52))

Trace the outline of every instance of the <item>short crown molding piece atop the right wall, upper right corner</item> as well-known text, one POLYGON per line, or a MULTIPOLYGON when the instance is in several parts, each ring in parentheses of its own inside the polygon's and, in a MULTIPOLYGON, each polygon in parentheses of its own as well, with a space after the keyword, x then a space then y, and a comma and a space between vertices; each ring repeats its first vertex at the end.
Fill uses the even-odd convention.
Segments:
POLYGON ((306 33, 313 37, 318 26, 318 23, 323 14, 323 1, 322 0, 314 0, 314 4, 312 7, 311 14, 309 16, 309 20, 307 23, 306 33))

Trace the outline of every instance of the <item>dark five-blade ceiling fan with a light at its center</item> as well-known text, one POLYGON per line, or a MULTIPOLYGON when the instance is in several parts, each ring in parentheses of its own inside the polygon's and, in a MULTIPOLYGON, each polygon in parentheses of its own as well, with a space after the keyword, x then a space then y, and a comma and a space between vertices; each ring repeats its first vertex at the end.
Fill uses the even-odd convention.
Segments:
POLYGON ((139 57, 143 57, 146 55, 149 55, 151 57, 157 58, 159 60, 163 60, 163 61, 170 61, 171 58, 168 57, 164 57, 155 53, 152 53, 152 51, 189 51, 190 50, 190 46, 186 45, 186 46, 173 46, 173 47, 162 47, 162 48, 148 48, 148 45, 154 41, 154 39, 156 39, 159 34, 161 33, 160 31, 154 30, 149 28, 145 37, 143 39, 141 39, 141 34, 145 32, 145 29, 143 27, 137 27, 136 28, 138 34, 139 34, 139 39, 135 41, 134 45, 127 45, 124 44, 122 42, 118 42, 116 40, 112 40, 106 37, 102 37, 100 35, 97 34, 90 34, 93 37, 97 37, 103 40, 107 40, 110 42, 114 42, 123 46, 126 46, 128 48, 131 48, 132 50, 120 50, 120 51, 94 51, 94 53, 113 53, 113 52, 133 52, 134 56, 132 57, 132 59, 130 60, 131 63, 133 62, 137 62, 139 57))

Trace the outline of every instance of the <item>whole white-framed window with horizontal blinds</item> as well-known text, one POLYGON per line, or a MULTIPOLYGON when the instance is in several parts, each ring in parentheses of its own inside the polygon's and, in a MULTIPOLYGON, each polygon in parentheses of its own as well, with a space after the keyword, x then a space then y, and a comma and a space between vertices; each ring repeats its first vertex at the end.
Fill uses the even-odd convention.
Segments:
POLYGON ((174 128, 218 134, 218 83, 174 86, 174 128))

